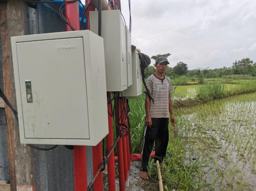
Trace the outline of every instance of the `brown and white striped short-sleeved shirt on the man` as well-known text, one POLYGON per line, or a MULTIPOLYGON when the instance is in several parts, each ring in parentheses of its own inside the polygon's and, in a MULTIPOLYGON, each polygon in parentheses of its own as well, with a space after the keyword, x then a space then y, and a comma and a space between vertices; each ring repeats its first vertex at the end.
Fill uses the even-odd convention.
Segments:
MULTIPOLYGON (((150 102, 151 118, 168 118, 169 117, 169 93, 174 92, 171 79, 164 75, 161 79, 152 74, 147 79, 147 88, 151 92, 154 102, 150 102)), ((146 89, 144 89, 147 93, 146 89)))

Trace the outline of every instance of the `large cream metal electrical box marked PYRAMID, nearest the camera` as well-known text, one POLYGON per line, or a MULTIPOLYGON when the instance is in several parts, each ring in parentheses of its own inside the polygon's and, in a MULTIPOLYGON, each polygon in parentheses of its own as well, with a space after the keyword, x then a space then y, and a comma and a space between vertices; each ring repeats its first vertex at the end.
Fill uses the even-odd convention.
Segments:
POLYGON ((21 143, 97 145, 108 134, 103 38, 84 30, 11 45, 21 143))

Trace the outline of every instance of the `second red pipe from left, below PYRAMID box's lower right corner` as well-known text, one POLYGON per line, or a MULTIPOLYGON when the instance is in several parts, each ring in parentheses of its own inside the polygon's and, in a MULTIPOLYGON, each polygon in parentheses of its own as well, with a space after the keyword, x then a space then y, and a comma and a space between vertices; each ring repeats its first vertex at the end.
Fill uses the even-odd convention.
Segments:
MULTIPOLYGON (((96 175, 99 170, 99 165, 102 162, 102 143, 99 142, 96 146, 93 146, 93 176, 96 175)), ((94 191, 103 191, 103 173, 100 172, 93 184, 94 191)))

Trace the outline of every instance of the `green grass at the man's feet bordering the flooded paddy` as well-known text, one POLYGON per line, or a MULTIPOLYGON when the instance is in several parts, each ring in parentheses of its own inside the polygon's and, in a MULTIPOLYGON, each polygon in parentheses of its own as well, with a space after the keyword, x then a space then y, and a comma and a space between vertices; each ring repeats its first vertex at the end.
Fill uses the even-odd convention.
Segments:
MULTIPOLYGON (((176 116, 176 118, 178 118, 176 116)), ((173 127, 169 127, 169 143, 166 158, 160 165, 163 183, 166 190, 204 190, 213 189, 213 186, 206 183, 203 168, 206 166, 199 158, 194 161, 187 161, 186 142, 183 133, 176 135, 173 127)), ((149 160, 148 174, 157 180, 157 168, 154 159, 149 160)))

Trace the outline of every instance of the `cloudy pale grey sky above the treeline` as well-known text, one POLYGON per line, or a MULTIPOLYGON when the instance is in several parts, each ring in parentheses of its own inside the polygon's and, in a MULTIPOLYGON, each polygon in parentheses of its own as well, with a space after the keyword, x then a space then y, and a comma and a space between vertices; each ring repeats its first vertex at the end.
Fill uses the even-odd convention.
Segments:
MULTIPOLYGON (((121 6, 129 25, 128 0, 121 6)), ((172 67, 256 62, 256 0, 131 0, 131 16, 132 43, 150 57, 171 53, 172 67)))

